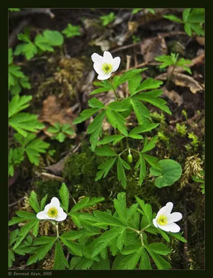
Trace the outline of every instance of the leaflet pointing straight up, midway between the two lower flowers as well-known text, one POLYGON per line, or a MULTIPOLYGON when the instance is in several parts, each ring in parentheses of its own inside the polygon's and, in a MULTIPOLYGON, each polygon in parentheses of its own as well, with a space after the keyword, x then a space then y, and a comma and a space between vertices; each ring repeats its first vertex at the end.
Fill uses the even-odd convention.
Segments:
POLYGON ((127 224, 126 193, 125 192, 118 193, 117 199, 116 198, 113 199, 113 204, 114 207, 116 208, 120 221, 123 222, 123 224, 127 224))

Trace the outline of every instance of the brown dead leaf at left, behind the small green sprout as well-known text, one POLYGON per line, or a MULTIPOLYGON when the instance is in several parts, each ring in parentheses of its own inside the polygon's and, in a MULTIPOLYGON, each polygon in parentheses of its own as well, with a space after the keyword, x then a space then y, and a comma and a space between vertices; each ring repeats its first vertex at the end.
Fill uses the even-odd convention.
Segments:
MULTIPOLYGON (((61 103, 61 100, 58 99, 54 95, 50 95, 43 101, 42 107, 42 115, 40 116, 40 122, 47 122, 51 125, 59 122, 60 124, 70 124, 72 126, 72 122, 75 118, 75 115, 72 113, 72 109, 70 107, 65 107, 64 104, 61 103)), ((75 126, 72 126, 72 129, 75 130, 75 126)), ((52 134, 47 132, 47 128, 43 130, 47 136, 51 136, 52 134)), ((70 138, 74 138, 75 135, 70 136, 70 138)))

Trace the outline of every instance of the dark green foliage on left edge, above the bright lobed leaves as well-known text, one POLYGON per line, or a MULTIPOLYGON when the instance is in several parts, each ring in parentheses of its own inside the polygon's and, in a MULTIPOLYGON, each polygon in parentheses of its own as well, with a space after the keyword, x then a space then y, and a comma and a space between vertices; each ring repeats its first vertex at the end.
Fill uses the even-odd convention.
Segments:
POLYGON ((19 94, 22 88, 31 89, 29 78, 21 70, 13 63, 13 50, 8 49, 8 89, 12 95, 19 94))

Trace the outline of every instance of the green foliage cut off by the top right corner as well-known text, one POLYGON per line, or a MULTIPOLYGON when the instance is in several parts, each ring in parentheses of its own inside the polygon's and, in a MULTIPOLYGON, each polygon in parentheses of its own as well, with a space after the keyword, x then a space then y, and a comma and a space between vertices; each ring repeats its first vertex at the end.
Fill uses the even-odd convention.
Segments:
POLYGON ((164 18, 174 22, 184 24, 184 31, 191 37, 193 33, 196 35, 205 35, 203 23, 205 22, 204 8, 186 8, 182 13, 182 19, 175 15, 163 15, 164 18))

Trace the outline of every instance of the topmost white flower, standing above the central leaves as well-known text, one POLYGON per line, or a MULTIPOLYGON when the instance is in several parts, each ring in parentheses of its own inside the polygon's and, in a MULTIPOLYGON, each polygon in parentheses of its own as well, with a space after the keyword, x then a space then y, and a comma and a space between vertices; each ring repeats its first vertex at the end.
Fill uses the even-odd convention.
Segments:
POLYGON ((104 51, 104 56, 100 56, 97 53, 93 53, 91 56, 93 60, 93 67, 97 72, 97 79, 105 80, 109 79, 112 72, 116 72, 120 65, 120 57, 113 58, 109 51, 104 51))

